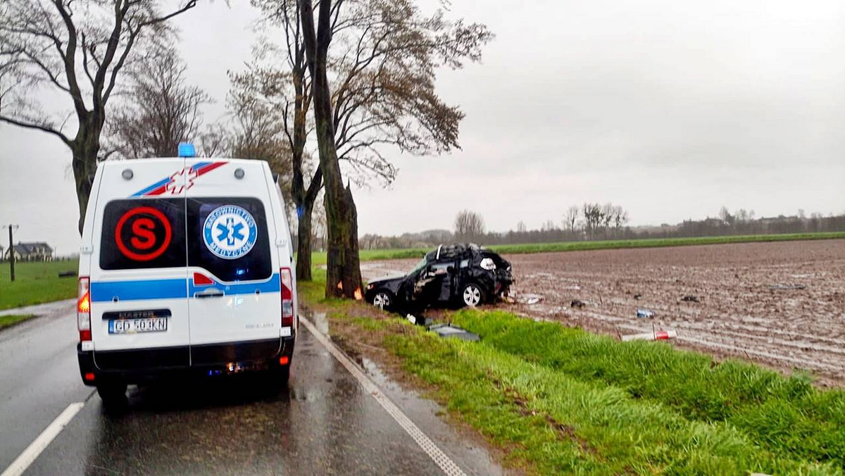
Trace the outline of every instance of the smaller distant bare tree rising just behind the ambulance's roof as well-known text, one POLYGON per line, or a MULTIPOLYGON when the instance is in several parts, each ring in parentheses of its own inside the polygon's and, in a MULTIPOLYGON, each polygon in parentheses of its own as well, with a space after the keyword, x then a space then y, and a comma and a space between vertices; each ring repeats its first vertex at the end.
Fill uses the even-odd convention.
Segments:
POLYGON ((119 156, 172 157, 180 142, 200 139, 199 107, 211 97, 186 84, 185 64, 174 48, 154 59, 132 69, 128 93, 106 128, 106 144, 119 156))

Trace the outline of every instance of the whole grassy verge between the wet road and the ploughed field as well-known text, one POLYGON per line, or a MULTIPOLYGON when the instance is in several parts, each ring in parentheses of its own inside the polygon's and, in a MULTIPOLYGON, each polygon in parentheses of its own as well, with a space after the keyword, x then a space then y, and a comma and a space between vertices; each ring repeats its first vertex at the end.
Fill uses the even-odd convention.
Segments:
MULTIPOLYGON (((803 375, 656 342, 461 311, 482 342, 441 339, 363 304, 320 301, 353 352, 381 348, 527 473, 842 474, 845 394, 803 375), (363 345, 356 348, 356 342, 363 345)), ((372 356, 371 356, 372 357, 372 356)))

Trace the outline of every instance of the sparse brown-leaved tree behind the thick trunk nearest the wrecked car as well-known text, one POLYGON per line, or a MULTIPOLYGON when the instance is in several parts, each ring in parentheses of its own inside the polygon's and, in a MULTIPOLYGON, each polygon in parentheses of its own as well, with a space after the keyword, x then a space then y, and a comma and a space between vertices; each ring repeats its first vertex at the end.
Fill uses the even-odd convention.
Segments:
MULTIPOLYGON (((284 31, 278 63, 259 65, 276 53, 259 48, 256 63, 242 78, 263 85, 284 112, 293 152, 292 195, 299 216, 297 277, 311 278, 310 242, 313 201, 322 186, 323 171, 313 177, 302 170, 304 147, 311 126, 313 80, 308 74, 300 10, 295 0, 253 0, 270 25, 284 31), (306 181, 305 178, 310 178, 306 181)), ((377 178, 390 183, 395 167, 385 147, 426 155, 458 147, 458 123, 463 113, 450 107, 434 90, 435 68, 461 68, 462 61, 480 58, 481 46, 492 37, 483 25, 449 22, 441 12, 424 17, 411 0, 346 0, 336 2, 330 22, 332 47, 327 52, 332 95, 332 125, 338 160, 358 183, 377 178), (341 13, 341 3, 344 11, 341 13)))

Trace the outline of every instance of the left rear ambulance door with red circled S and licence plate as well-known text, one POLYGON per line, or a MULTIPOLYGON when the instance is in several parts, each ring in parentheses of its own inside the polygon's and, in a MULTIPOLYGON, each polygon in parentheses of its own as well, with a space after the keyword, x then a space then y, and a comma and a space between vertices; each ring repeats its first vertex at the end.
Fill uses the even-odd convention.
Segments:
POLYGON ((185 198, 178 159, 104 164, 90 265, 101 369, 189 364, 185 198))

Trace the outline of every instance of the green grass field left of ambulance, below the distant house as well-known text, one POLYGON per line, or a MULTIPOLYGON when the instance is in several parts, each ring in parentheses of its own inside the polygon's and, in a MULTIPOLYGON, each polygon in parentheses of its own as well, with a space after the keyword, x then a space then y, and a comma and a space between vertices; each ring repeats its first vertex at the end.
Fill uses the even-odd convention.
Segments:
POLYGON ((15 263, 15 280, 9 280, 8 262, 0 263, 0 309, 50 303, 76 296, 77 279, 58 277, 59 271, 77 271, 79 261, 15 263))

